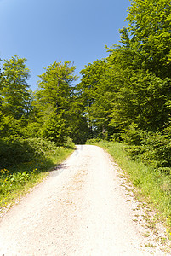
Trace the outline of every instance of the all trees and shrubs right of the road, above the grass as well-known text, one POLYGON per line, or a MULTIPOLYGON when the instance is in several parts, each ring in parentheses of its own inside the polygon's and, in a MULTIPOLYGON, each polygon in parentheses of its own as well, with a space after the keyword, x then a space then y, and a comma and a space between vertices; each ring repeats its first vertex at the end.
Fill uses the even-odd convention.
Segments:
POLYGON ((77 85, 92 137, 129 144, 134 158, 171 174, 171 3, 134 0, 120 44, 88 64, 77 85))

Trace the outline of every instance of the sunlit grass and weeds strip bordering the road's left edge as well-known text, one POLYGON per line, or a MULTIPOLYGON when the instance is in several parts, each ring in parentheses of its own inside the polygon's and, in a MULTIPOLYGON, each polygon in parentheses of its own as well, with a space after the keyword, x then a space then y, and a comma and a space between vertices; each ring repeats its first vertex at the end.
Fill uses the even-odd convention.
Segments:
POLYGON ((71 154, 73 148, 47 150, 43 160, 35 159, 0 169, 0 212, 14 204, 71 154))

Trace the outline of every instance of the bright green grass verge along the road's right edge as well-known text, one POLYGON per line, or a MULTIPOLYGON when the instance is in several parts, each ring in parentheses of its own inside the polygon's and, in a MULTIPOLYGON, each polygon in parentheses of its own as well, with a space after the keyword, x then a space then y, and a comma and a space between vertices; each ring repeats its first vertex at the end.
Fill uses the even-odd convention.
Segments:
POLYGON ((162 220, 171 230, 171 181, 163 177, 152 166, 130 160, 123 143, 100 141, 96 145, 105 148, 117 164, 121 166, 126 176, 134 184, 134 192, 139 201, 145 201, 157 212, 157 218, 162 220))

